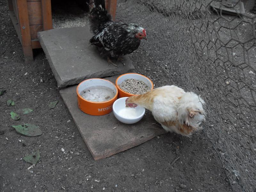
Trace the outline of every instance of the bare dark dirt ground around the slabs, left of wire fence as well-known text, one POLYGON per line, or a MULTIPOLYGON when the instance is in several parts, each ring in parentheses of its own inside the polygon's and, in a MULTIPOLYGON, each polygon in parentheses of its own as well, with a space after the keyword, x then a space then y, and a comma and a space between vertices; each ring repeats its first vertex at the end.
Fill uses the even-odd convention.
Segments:
MULTIPOLYGON (((6 5, 0 0, 0 89, 6 89, 0 96, 0 191, 231 191, 204 131, 191 138, 167 133, 94 161, 60 97, 44 52, 36 50, 32 65, 24 63, 6 5), (15 106, 7 106, 8 99, 15 106), (48 109, 54 100, 59 103, 48 109), (34 111, 12 120, 10 112, 23 108, 34 111), (23 123, 37 125, 43 134, 26 137, 13 130, 12 125, 23 123), (30 164, 22 157, 37 149, 40 161, 28 170, 30 164)), ((131 16, 129 6, 118 2, 118 20, 131 16)), ((172 84, 162 68, 138 57, 147 46, 142 44, 131 55, 136 71, 153 78, 156 87, 172 84)))

